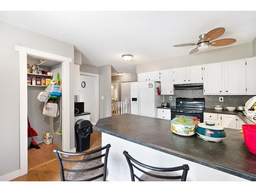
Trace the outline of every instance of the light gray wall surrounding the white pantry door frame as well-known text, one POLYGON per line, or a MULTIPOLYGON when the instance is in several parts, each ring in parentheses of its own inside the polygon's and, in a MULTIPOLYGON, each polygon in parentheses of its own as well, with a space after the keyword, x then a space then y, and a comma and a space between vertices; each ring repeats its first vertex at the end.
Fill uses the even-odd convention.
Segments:
MULTIPOLYGON (((0 63, 1 63, 1 129, 0 135, 0 176, 11 173, 19 166, 19 53, 15 45, 74 58, 74 46, 48 36, 0 22, 0 63)), ((71 63, 73 85, 73 63, 71 63)), ((73 86, 70 86, 70 111, 74 113, 73 86)), ((74 116, 70 118, 73 127, 74 116)), ((74 130, 71 129, 71 142, 74 146, 74 130), (73 134, 73 135, 72 135, 73 134)), ((72 147, 73 147, 72 146, 72 147)))

